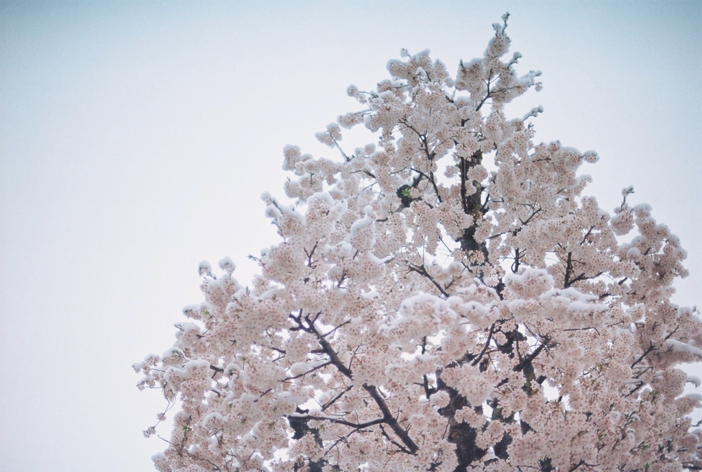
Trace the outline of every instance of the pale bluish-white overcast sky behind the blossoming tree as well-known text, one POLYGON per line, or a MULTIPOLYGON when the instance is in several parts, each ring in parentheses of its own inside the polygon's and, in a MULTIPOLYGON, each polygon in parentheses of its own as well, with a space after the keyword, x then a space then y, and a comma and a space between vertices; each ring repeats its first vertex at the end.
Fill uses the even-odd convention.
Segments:
POLYGON ((164 403, 131 363, 201 301, 201 259, 249 282, 284 145, 336 159, 314 132, 358 109, 349 83, 402 47, 455 71, 505 11, 545 87, 510 111, 600 153, 605 210, 633 184, 701 302, 701 1, 0 1, 0 472, 152 471, 164 403))

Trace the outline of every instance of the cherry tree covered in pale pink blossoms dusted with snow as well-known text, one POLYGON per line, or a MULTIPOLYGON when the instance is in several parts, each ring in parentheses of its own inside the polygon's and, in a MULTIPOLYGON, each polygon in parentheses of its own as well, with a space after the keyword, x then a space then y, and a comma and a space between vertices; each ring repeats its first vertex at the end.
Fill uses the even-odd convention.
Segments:
POLYGON ((403 50, 350 86, 362 111, 317 133, 340 160, 284 149, 296 203, 263 196, 282 242, 253 288, 202 263, 193 322, 134 365, 181 400, 159 471, 702 470, 685 252, 633 189, 614 216, 583 196, 597 154, 535 145, 541 108, 505 117, 541 88, 501 59, 507 18, 455 79, 403 50), (378 145, 346 154, 359 124, 378 145))

